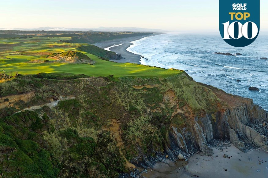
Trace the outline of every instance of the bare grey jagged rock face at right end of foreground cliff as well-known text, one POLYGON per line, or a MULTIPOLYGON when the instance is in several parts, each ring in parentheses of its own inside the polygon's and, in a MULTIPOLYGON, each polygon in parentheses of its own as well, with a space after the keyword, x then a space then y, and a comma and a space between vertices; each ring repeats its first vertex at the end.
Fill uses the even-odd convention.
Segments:
POLYGON ((254 105, 252 101, 221 109, 214 117, 209 114, 205 117, 196 117, 195 121, 189 131, 172 126, 169 132, 171 150, 178 147, 188 152, 190 149, 200 148, 204 154, 213 155, 212 148, 208 144, 212 139, 222 139, 231 141, 241 151, 247 151, 246 143, 268 152, 266 133, 264 136, 248 126, 267 122, 266 111, 254 105))

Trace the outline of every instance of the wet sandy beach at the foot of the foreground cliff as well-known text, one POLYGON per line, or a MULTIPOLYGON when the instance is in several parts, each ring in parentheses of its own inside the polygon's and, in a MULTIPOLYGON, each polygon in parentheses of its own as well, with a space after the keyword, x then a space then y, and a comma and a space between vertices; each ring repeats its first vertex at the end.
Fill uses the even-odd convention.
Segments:
MULTIPOLYGON (((189 158, 186 166, 167 161, 158 163, 153 169, 148 169, 142 175, 147 178, 267 178, 268 153, 263 150, 254 150, 244 153, 233 145, 223 151, 213 148, 213 156, 203 153, 189 158), (230 158, 224 158, 227 154, 230 158), (217 157, 218 156, 218 157, 217 157), (262 161, 259 161, 262 160, 262 161), (259 172, 258 172, 259 170, 259 172)), ((184 161, 185 162, 185 161, 184 161)))

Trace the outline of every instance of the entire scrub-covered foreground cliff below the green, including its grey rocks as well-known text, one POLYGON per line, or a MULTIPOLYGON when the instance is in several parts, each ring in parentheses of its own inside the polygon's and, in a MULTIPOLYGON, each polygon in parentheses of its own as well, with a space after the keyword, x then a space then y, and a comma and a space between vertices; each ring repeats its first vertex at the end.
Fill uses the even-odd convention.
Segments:
POLYGON ((117 177, 153 166, 159 156, 212 155, 212 139, 268 151, 265 110, 186 73, 37 74, 16 76, 0 89, 3 177, 117 177))

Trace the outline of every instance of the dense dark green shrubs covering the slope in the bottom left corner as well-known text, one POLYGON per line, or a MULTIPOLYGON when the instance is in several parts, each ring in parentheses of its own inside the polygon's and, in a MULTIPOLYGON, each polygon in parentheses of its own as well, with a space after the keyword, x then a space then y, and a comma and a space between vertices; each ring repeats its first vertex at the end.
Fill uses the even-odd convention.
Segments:
POLYGON ((58 176, 59 169, 54 166, 50 153, 40 145, 42 137, 29 131, 36 118, 39 118, 36 112, 25 111, 1 119, 0 146, 5 154, 0 167, 8 168, 1 171, 3 177, 58 176))

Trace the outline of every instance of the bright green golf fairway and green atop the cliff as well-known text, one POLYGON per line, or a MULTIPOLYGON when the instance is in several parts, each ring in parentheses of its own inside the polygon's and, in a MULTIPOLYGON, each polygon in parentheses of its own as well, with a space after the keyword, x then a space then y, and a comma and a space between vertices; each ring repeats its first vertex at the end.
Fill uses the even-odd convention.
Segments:
MULTIPOLYGON (((151 66, 143 66, 131 63, 116 63, 99 59, 98 56, 82 52, 96 61, 94 66, 89 64, 68 63, 29 63, 32 60, 55 60, 41 58, 54 52, 66 52, 75 50, 81 44, 65 43, 60 40, 68 40, 70 37, 34 37, 28 39, 1 38, 0 39, 0 71, 18 72, 20 74, 36 73, 69 73, 85 74, 88 76, 166 76, 181 73, 179 70, 167 70, 151 66)), ((87 44, 85 44, 87 45, 87 44)))

